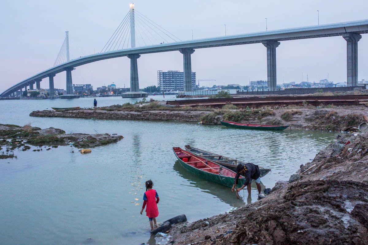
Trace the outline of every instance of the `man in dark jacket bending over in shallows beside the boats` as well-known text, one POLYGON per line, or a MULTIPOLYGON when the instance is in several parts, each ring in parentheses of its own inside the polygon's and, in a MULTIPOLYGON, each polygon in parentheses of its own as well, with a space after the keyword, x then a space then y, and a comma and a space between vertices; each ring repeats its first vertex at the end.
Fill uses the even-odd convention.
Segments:
POLYGON ((250 163, 250 162, 245 163, 244 165, 239 164, 236 167, 236 170, 237 170, 237 173, 236 173, 234 185, 233 185, 233 188, 231 188, 231 191, 234 191, 234 188, 238 184, 239 177, 241 174, 245 177, 246 181, 244 182, 244 185, 242 187, 238 188, 237 191, 240 191, 243 188, 247 187, 248 195, 250 195, 251 194, 251 183, 252 183, 252 179, 254 179, 257 185, 258 194, 261 194, 261 177, 259 177, 261 175, 261 172, 259 172, 259 168, 257 165, 254 165, 253 163, 250 163))

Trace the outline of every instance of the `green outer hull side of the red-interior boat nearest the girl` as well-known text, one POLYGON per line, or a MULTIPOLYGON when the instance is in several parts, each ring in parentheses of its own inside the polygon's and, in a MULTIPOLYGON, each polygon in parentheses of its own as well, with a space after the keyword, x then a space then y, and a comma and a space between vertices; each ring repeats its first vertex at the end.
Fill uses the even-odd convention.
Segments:
MULTIPOLYGON (((173 148, 174 151, 174 148, 173 148)), ((220 174, 214 174, 214 173, 210 173, 210 172, 206 172, 204 170, 201 169, 197 169, 191 165, 189 165, 188 163, 184 162, 180 157, 178 157, 178 155, 176 154, 176 152, 174 151, 176 158, 179 160, 180 165, 184 167, 184 169, 188 170, 188 172, 197 175, 198 177, 201 177, 202 179, 220 184, 220 185, 224 185, 226 187, 232 188, 233 184, 234 184, 234 177, 229 177, 229 176, 223 176, 220 174)), ((245 182, 245 178, 240 178, 238 180, 238 185, 240 184, 243 185, 245 182)))

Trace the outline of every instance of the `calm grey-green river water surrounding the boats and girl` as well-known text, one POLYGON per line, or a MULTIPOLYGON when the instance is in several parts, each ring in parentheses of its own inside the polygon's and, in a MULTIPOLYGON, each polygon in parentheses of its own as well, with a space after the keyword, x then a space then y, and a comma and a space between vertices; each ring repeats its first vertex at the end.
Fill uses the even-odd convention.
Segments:
MULTIPOLYGON (((174 100, 174 96, 165 97, 148 99, 174 100)), ((97 100, 99 107, 136 101, 97 100)), ((93 107, 93 98, 0 101, 3 124, 124 136, 85 155, 77 148, 61 146, 39 152, 15 150, 16 159, 1 159, 0 244, 155 244, 148 217, 139 214, 148 179, 160 197, 158 221, 180 214, 195 221, 257 199, 254 183, 250 197, 241 191, 241 199, 236 199, 229 188, 188 173, 176 161, 172 147, 190 144, 270 168, 272 172, 261 182, 263 188, 272 188, 276 181, 289 180, 300 164, 310 162, 335 137, 329 132, 294 129, 258 131, 197 123, 29 116, 33 110, 73 106, 93 107)))

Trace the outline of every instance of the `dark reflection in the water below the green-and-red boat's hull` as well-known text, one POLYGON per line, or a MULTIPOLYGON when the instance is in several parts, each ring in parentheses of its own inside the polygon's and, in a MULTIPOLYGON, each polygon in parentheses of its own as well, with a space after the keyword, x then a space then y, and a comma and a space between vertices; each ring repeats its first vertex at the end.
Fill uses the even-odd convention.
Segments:
MULTIPOLYGON (((235 192, 231 192, 230 188, 224 187, 222 185, 216 184, 214 182, 210 182, 198 177, 195 174, 188 172, 184 167, 180 165, 179 161, 176 161, 174 164, 174 170, 179 174, 179 176, 183 177, 184 179, 188 180, 189 187, 197 187, 201 189, 202 192, 206 192, 218 197, 222 202, 229 204, 232 207, 241 207, 244 206, 245 198, 247 198, 247 204, 252 202, 251 195, 248 196, 247 188, 244 188, 244 192, 240 191, 239 195, 241 196, 240 199, 236 198, 235 192)), ((182 184, 185 185, 185 184, 182 184)), ((265 185, 261 182, 262 190, 265 188, 265 185)), ((258 193, 257 187, 255 183, 252 183, 252 192, 258 193)), ((256 199, 254 200, 256 201, 256 199)))

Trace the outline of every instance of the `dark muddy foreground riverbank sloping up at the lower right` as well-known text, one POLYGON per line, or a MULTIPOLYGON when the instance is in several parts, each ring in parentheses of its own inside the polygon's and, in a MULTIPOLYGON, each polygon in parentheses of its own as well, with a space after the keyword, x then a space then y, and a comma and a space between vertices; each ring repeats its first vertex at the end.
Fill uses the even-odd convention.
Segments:
POLYGON ((177 224, 170 231, 171 241, 367 244, 368 132, 337 137, 312 162, 296 163, 304 165, 265 198, 230 213, 177 224))

